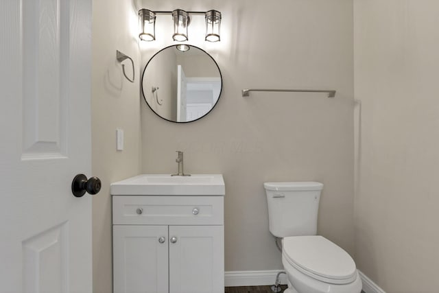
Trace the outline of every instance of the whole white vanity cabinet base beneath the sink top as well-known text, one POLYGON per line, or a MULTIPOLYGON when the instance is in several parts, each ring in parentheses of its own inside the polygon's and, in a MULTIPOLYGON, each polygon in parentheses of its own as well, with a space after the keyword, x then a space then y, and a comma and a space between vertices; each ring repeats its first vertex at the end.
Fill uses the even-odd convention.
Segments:
POLYGON ((112 196, 114 293, 224 293, 224 196, 112 196))

